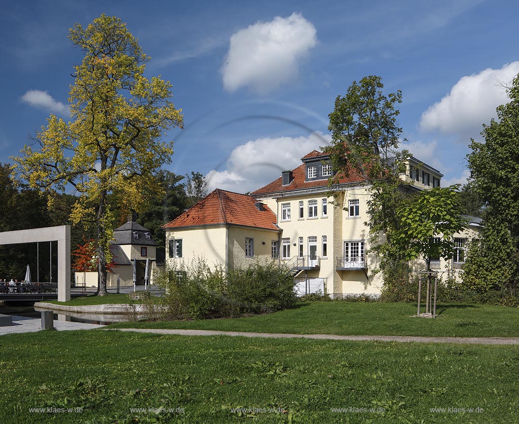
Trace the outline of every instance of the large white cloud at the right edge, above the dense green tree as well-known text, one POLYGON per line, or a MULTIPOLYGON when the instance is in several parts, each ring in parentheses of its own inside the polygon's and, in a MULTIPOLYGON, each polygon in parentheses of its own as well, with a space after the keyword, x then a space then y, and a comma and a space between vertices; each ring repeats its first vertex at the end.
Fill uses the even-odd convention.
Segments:
MULTIPOLYGON (((511 83, 519 73, 519 62, 501 69, 485 69, 462 77, 441 101, 422 113, 420 129, 475 137, 496 116, 496 107, 508 103, 503 84, 511 83)), ((467 140, 465 140, 467 141, 467 140)))

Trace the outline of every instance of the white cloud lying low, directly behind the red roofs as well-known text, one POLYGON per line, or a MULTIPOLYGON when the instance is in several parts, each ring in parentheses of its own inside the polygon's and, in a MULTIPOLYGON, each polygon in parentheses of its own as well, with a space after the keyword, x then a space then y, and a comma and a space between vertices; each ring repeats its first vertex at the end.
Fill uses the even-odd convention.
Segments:
POLYGON ((282 171, 301 165, 301 158, 330 143, 330 136, 313 133, 307 137, 263 138, 241 144, 230 153, 223 171, 207 174, 210 189, 252 192, 276 180, 282 171))

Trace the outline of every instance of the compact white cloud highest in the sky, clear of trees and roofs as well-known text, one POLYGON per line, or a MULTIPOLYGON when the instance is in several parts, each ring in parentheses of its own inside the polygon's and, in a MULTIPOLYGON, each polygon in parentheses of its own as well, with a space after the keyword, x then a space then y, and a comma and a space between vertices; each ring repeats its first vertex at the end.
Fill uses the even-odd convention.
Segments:
POLYGON ((317 44, 315 26, 301 13, 257 22, 230 37, 222 67, 224 88, 266 93, 297 76, 298 65, 317 44))

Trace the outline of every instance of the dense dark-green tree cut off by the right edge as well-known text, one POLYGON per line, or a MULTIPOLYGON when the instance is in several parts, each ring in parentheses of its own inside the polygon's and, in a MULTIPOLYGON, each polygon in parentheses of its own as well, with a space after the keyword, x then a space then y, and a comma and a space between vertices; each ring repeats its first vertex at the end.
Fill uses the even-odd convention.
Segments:
POLYGON ((467 155, 470 184, 484 204, 481 240, 469 249, 463 282, 482 291, 514 294, 519 281, 519 75, 507 89, 510 102, 483 125, 484 142, 467 155))

